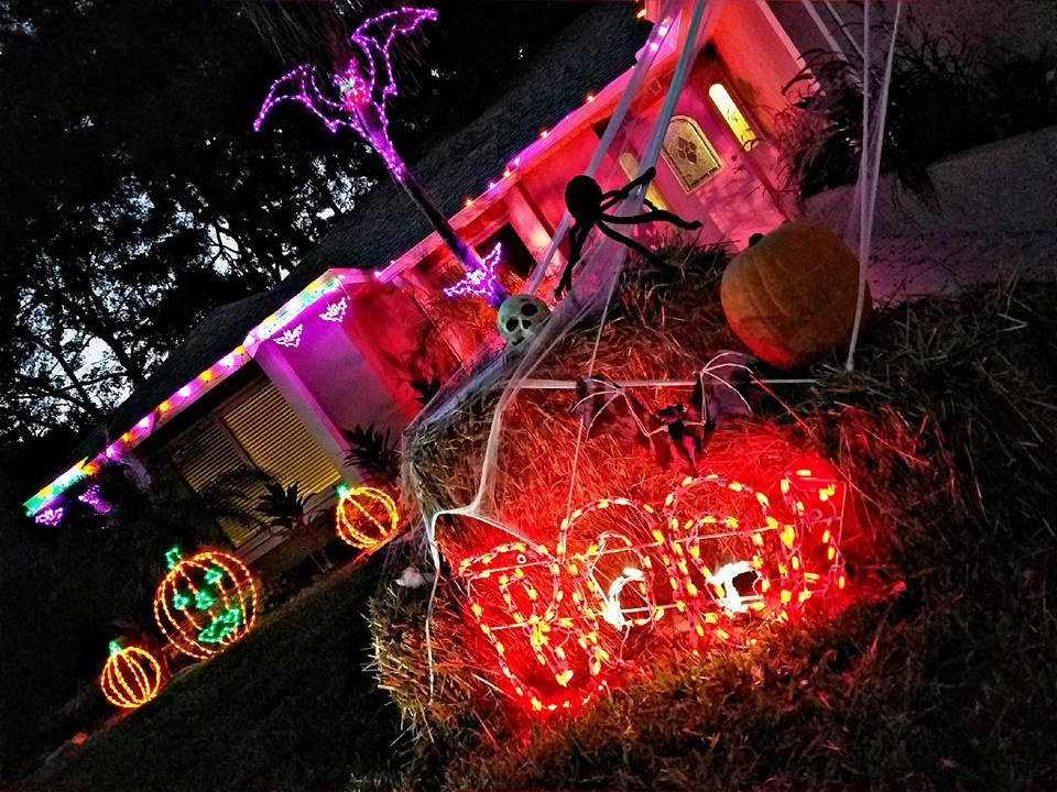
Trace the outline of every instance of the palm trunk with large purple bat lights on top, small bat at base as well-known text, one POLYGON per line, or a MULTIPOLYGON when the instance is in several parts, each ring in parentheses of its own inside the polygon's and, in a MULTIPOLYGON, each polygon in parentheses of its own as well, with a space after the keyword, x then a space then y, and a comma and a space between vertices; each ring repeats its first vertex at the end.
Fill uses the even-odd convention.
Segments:
POLYGON ((353 55, 329 78, 322 76, 314 65, 302 64, 275 80, 253 121, 253 129, 260 131, 276 105, 297 102, 314 113, 331 133, 342 127, 355 131, 382 157, 390 175, 426 216, 466 271, 466 277, 445 289, 445 294, 472 294, 498 307, 506 297, 495 277, 499 245, 482 262, 414 179, 389 139, 385 106, 390 97, 396 96, 390 47, 397 35, 413 32, 424 20, 436 19, 434 9, 417 8, 400 8, 371 16, 349 37, 353 55))

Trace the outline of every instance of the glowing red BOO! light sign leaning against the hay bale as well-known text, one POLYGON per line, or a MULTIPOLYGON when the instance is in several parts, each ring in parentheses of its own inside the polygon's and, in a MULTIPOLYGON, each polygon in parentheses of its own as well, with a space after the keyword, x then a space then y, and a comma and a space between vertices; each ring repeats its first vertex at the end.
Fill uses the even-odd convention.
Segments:
POLYGON ((511 701, 570 712, 658 640, 694 654, 747 647, 765 626, 833 613, 848 602, 844 508, 840 476, 813 455, 766 492, 687 477, 657 506, 595 501, 554 543, 505 542, 454 565, 511 701))

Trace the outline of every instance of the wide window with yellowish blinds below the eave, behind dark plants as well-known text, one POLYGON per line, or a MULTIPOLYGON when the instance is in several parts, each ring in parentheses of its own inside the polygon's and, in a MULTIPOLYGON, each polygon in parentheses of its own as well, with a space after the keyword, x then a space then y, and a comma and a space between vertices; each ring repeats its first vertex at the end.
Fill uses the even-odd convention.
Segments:
MULTIPOLYGON (((283 486, 296 482, 302 495, 322 492, 340 479, 274 385, 258 381, 246 393, 174 442, 173 464, 192 490, 200 493, 222 475, 253 469, 283 486)), ((264 485, 249 486, 248 502, 253 504, 264 485)), ((236 547, 253 536, 253 529, 237 519, 221 519, 220 527, 236 547)))

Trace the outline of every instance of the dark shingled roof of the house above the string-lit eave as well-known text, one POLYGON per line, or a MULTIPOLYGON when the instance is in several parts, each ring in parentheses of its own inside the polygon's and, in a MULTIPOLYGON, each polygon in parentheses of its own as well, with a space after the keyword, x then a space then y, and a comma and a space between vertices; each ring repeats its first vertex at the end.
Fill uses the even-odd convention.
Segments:
MULTIPOLYGON (((468 195, 532 144, 540 130, 581 106, 584 97, 617 79, 634 64, 649 24, 626 3, 599 2, 531 56, 499 98, 478 118, 442 139, 412 172, 447 217, 468 195)), ((193 381, 247 333, 331 267, 374 270, 418 244, 433 229, 391 182, 357 201, 275 288, 215 309, 113 413, 81 440, 61 470, 99 453, 185 383, 193 381)))

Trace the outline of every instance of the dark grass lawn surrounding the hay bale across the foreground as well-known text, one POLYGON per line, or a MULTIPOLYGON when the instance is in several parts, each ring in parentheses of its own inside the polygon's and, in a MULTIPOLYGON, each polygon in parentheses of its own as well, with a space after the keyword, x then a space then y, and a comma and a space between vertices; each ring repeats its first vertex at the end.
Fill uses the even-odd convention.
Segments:
MULTIPOLYGON (((1051 284, 1014 284, 881 312, 857 372, 819 367, 791 405, 883 529, 890 590, 831 624, 658 663, 649 684, 528 735, 501 707, 454 701, 412 745, 364 671, 374 560, 25 785, 1057 789, 1055 299, 1051 284)), ((424 609, 421 590, 401 597, 424 609)), ((392 614, 404 638, 414 613, 392 614)), ((402 658, 414 692, 424 662, 402 658)))

